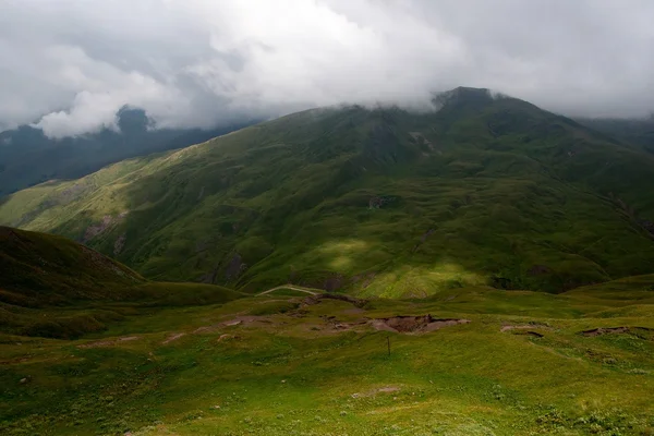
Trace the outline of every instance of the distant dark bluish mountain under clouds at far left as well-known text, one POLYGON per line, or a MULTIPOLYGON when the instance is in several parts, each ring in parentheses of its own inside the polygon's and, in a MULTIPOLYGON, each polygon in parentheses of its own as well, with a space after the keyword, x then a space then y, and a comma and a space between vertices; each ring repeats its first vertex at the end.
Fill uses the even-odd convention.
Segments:
POLYGON ((76 179, 108 164, 207 141, 250 124, 220 129, 152 129, 141 109, 117 113, 120 131, 53 140, 40 129, 23 125, 0 132, 0 197, 53 179, 76 179))

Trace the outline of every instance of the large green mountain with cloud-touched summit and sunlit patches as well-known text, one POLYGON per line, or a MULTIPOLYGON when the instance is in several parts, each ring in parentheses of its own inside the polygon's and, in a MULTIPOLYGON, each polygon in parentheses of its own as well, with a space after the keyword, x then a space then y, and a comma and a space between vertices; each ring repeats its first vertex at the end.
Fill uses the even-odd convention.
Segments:
POLYGON ((157 280, 424 296, 654 271, 654 157, 486 89, 323 108, 5 198, 157 280))

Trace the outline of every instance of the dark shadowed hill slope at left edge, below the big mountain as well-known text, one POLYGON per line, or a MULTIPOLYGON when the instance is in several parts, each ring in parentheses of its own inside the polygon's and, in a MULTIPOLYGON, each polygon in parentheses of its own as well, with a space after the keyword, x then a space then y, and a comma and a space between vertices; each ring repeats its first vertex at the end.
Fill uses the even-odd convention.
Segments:
POLYGON ((0 227, 0 334, 74 338, 104 330, 135 306, 241 296, 215 286, 152 282, 65 238, 8 227, 0 227))

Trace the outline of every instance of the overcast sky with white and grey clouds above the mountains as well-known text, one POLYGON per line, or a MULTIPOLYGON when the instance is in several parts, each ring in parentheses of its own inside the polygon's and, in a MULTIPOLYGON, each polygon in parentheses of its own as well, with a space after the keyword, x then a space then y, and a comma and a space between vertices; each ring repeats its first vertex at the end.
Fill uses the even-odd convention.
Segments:
POLYGON ((644 116, 653 22, 651 0, 0 0, 0 130, 93 132, 124 105, 213 126, 459 85, 644 116))

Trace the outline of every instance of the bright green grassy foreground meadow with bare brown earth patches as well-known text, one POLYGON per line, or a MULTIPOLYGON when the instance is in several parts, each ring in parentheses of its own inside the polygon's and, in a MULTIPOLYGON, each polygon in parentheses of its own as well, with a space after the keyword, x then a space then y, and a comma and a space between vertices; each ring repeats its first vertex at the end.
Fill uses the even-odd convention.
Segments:
POLYGON ((0 337, 0 434, 654 434, 653 284, 116 302, 101 334, 0 337))

